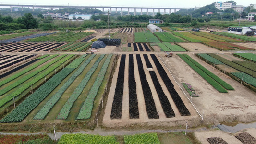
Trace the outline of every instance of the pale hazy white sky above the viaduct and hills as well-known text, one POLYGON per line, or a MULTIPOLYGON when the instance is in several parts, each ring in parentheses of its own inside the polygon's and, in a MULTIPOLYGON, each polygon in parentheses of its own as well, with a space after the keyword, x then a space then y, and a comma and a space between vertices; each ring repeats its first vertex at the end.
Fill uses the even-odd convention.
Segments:
MULTIPOLYGON (((219 0, 221 1, 221 0, 219 0)), ((229 1, 223 0, 222 2, 229 1)), ((237 5, 249 6, 255 0, 233 0, 237 5)), ((92 5, 92 6, 130 6, 130 7, 203 7, 218 0, 0 0, 2 4, 50 4, 50 5, 92 5)))

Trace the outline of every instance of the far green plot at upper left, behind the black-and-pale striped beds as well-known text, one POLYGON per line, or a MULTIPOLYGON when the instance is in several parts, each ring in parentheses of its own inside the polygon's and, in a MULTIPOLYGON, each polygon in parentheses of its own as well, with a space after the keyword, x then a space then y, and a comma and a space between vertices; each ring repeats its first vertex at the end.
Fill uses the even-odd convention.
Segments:
POLYGON ((43 36, 40 38, 32 38, 27 40, 26 42, 75 42, 81 41, 82 38, 93 34, 93 32, 88 33, 75 33, 75 32, 59 32, 55 34, 51 34, 49 36, 43 36))

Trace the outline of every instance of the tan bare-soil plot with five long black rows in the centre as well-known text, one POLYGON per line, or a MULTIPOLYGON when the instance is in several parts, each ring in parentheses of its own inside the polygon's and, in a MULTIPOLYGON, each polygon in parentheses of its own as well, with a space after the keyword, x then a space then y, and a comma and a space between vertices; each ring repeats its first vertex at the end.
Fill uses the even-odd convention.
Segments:
POLYGON ((155 55, 122 55, 114 77, 105 124, 166 121, 191 115, 155 55))

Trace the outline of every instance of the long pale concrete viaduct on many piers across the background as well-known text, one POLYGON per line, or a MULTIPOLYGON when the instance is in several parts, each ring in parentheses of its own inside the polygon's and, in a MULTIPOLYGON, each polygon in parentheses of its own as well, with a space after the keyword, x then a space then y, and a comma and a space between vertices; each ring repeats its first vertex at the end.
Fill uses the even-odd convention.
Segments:
POLYGON ((180 10, 180 9, 189 9, 189 8, 150 8, 150 7, 115 7, 115 6, 72 6, 72 5, 28 5, 28 4, 0 4, 0 6, 4 7, 10 7, 12 12, 12 7, 21 7, 21 10, 23 11, 23 7, 32 7, 32 10, 34 11, 34 8, 47 8, 47 9, 57 9, 57 8, 77 8, 77 9, 84 9, 84 8, 101 8, 104 12, 104 9, 110 9, 110 13, 112 13, 112 9, 115 9, 115 13, 117 13, 117 9, 121 9, 121 16, 123 16, 123 9, 128 9, 128 15, 130 15, 130 9, 134 9, 134 15, 136 15, 136 10, 140 10, 140 14, 142 15, 142 10, 146 9, 146 14, 148 15, 148 10, 153 10, 153 16, 155 15, 155 10, 158 10, 160 12, 160 9, 164 10, 164 14, 166 14, 166 10, 169 10, 169 14, 171 14, 171 10, 180 10))

